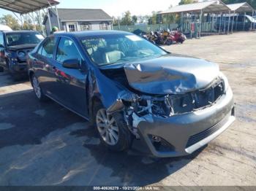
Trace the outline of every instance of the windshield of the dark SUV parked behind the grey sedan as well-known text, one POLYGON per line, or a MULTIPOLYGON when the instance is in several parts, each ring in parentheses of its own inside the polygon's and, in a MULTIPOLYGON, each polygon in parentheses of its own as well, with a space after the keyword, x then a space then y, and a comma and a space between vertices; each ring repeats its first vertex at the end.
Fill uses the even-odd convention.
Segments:
POLYGON ((22 44, 38 44, 44 39, 41 34, 38 33, 15 33, 7 34, 7 46, 17 46, 22 44))

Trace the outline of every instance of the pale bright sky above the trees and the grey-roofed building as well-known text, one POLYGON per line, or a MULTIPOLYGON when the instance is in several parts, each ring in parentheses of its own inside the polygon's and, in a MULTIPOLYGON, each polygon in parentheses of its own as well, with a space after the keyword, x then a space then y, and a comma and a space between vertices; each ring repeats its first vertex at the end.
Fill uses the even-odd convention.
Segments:
MULTIPOLYGON (((103 9, 110 16, 121 16, 129 10, 132 15, 151 15, 152 11, 165 10, 180 0, 59 0, 59 8, 103 9)), ((12 13, 0 9, 2 15, 12 13)))

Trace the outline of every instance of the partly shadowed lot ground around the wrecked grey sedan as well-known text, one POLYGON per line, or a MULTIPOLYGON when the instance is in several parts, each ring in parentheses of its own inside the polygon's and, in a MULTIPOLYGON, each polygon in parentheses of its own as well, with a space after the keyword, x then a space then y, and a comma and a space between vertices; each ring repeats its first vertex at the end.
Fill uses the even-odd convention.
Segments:
POLYGON ((0 74, 0 185, 255 185, 256 33, 191 39, 171 52, 219 63, 236 99, 237 120, 187 157, 153 160, 108 152, 88 122, 29 82, 0 74))

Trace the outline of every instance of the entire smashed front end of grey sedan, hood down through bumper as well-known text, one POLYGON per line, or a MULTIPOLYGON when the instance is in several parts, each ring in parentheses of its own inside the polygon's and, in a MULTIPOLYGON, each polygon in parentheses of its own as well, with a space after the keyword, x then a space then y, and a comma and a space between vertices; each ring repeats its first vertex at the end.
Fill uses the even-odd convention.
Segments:
POLYGON ((214 63, 161 57, 105 66, 102 73, 123 87, 107 112, 124 115, 136 137, 134 148, 142 152, 149 149, 157 157, 191 154, 235 120, 232 90, 214 63))

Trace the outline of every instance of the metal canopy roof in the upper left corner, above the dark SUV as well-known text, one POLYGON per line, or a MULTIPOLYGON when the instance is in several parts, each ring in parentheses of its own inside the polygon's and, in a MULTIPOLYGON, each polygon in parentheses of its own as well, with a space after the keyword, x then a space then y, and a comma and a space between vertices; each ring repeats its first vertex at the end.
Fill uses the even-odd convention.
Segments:
POLYGON ((54 0, 0 0, 0 8, 21 15, 59 4, 54 0))

